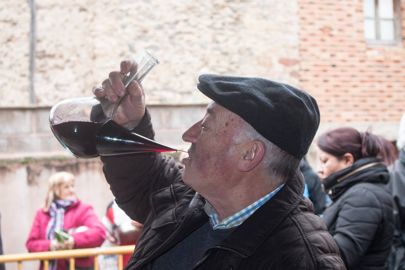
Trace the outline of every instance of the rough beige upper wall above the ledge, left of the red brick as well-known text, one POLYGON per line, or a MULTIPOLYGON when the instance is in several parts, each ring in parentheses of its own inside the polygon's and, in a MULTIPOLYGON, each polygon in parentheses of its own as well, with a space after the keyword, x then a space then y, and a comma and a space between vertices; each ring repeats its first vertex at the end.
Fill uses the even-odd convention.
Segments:
MULTIPOLYGON (((35 93, 40 106, 90 96, 143 49, 160 60, 144 85, 150 104, 205 103, 203 73, 299 86, 296 1, 36 0, 35 93)), ((0 7, 0 107, 28 106, 30 9, 0 7)))

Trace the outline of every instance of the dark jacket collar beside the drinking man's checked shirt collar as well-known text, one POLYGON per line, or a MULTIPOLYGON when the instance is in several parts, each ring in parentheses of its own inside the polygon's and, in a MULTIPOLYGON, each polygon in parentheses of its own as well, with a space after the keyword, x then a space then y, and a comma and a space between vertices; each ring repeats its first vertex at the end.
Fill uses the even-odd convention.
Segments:
POLYGON ((243 256, 252 256, 277 225, 296 208, 304 189, 304 177, 298 168, 295 176, 273 198, 243 221, 220 245, 239 251, 243 256))

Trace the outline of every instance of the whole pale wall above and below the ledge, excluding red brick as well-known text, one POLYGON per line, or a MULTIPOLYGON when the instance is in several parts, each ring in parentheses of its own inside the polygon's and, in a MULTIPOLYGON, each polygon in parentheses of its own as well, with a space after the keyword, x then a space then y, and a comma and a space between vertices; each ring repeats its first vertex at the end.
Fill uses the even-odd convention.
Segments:
POLYGON ((118 69, 124 57, 135 58, 145 49, 160 61, 143 83, 147 104, 156 140, 179 149, 188 148, 181 134, 209 102, 196 89, 200 74, 265 77, 299 87, 296 1, 35 3, 36 102, 29 98, 30 7, 24 0, 4 0, 0 6, 0 213, 6 254, 26 252, 52 172, 73 172, 79 196, 103 215, 111 193, 98 159, 74 159, 59 145, 49 130, 49 109, 62 99, 91 96, 93 85, 118 69))

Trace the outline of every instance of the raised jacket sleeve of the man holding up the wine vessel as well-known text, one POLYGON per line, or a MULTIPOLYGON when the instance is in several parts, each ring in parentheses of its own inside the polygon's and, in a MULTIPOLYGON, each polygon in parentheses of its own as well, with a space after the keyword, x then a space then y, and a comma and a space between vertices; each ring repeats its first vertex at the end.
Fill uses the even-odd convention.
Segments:
MULTIPOLYGON (((151 117, 145 111, 141 123, 132 130, 154 139, 151 117)), ((175 182, 182 182, 183 167, 160 153, 100 156, 103 172, 115 201, 135 221, 144 223, 150 213, 149 195, 175 182)))

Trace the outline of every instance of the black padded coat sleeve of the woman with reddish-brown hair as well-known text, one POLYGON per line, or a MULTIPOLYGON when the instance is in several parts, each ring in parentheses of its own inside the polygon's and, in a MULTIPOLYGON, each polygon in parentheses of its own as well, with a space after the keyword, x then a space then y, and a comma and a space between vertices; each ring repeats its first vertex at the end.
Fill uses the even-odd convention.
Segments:
POLYGON ((347 269, 351 269, 369 249, 383 213, 379 198, 369 189, 353 187, 347 192, 333 238, 347 269))

